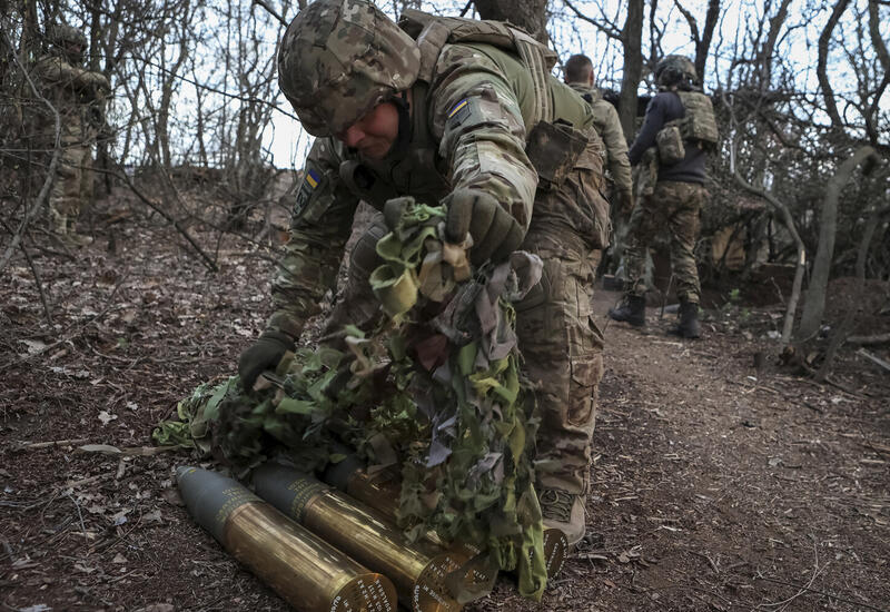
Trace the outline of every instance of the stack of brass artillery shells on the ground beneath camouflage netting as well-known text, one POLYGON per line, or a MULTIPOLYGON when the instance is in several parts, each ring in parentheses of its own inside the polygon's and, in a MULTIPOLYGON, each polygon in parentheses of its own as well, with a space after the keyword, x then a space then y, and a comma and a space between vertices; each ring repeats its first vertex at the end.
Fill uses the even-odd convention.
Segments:
MULTIPOLYGON (((269 463, 254 471, 256 494, 216 472, 180 467, 195 521, 300 612, 457 612, 487 594, 497 569, 472 544, 445 547, 434 533, 408 542, 395 524, 399 484, 369 475, 353 457, 326 483, 269 463)), ((545 530, 550 578, 565 536, 545 530)))

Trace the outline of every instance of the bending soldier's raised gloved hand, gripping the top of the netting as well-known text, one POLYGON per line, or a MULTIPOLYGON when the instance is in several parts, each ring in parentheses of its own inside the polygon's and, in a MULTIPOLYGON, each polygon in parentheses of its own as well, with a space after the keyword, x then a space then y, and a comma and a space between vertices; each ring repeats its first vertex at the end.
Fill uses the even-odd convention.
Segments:
POLYGON ((466 234, 473 237, 469 259, 478 266, 488 259, 502 261, 520 248, 525 229, 504 207, 481 189, 455 189, 442 204, 447 206, 445 234, 459 244, 466 234))

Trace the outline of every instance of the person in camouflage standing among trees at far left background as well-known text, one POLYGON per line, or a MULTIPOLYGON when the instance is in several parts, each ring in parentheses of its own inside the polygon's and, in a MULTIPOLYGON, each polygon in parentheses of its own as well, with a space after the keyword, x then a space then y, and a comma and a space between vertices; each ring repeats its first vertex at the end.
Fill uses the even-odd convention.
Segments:
POLYGON ((82 67, 87 37, 71 26, 48 32, 49 51, 34 65, 42 95, 58 111, 60 131, 56 141, 55 117, 44 112, 41 132, 47 149, 61 147, 58 174, 49 196, 49 213, 56 234, 76 244, 86 238, 75 230, 83 204, 92 199, 92 144, 105 125, 105 99, 111 87, 105 75, 82 67))

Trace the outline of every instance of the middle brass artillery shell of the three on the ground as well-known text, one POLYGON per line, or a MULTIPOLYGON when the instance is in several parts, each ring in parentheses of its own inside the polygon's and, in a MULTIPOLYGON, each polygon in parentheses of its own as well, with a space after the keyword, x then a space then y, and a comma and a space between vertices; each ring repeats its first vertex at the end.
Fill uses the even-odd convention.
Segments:
POLYGON ((257 494, 325 542, 388 576, 399 602, 416 612, 452 612, 462 605, 445 578, 464 559, 411 543, 379 512, 295 470, 267 464, 254 473, 257 494))

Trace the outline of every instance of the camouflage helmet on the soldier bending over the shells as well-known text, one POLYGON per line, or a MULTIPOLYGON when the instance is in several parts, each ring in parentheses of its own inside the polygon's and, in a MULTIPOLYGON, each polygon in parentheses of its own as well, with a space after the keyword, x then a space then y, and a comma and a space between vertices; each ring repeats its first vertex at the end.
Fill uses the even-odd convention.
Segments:
POLYGON ((278 85, 313 136, 339 134, 414 85, 421 50, 374 4, 317 0, 288 26, 278 85))

